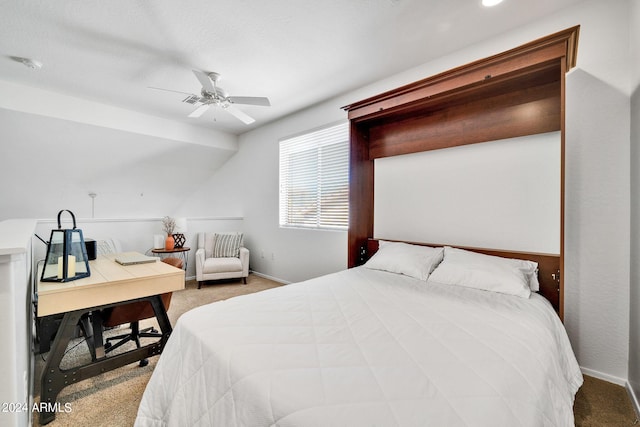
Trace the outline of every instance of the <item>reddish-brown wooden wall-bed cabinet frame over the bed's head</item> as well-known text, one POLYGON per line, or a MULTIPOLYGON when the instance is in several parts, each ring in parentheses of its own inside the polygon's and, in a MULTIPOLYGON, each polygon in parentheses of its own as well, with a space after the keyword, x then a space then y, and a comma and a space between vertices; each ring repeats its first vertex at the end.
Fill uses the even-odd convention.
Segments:
MULTIPOLYGON (((561 131, 564 216, 564 82, 579 26, 454 68, 344 109, 351 122, 349 267, 368 258, 377 158, 561 131)), ((556 309, 563 314, 563 219, 556 309)))

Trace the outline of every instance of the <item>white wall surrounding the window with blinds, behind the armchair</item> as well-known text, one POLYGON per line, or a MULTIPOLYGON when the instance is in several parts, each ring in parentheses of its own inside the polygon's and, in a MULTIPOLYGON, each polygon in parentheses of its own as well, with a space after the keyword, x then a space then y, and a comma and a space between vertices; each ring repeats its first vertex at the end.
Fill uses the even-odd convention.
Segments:
POLYGON ((294 282, 346 267, 346 232, 278 226, 278 140, 341 118, 333 105, 319 106, 242 135, 238 153, 194 196, 208 192, 212 206, 241 206, 251 269, 294 282))

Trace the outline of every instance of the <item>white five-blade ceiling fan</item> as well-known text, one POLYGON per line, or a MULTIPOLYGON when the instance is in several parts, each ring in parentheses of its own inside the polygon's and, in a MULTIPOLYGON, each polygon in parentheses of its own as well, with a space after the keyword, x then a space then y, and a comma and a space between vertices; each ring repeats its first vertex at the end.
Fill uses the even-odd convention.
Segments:
POLYGON ((193 93, 180 92, 177 90, 162 89, 157 87, 151 87, 151 89, 166 90, 169 92, 182 93, 187 96, 182 102, 191 105, 198 105, 198 107, 189 114, 189 117, 200 117, 205 111, 207 111, 212 105, 216 105, 222 108, 227 113, 241 120, 245 124, 251 124, 255 122, 255 119, 246 114, 244 111, 236 108, 236 104, 244 105, 258 105, 262 107, 269 107, 271 103, 269 98, 259 96, 229 96, 227 92, 218 87, 217 83, 220 81, 220 74, 215 72, 203 72, 199 70, 193 70, 196 78, 200 81, 202 89, 200 95, 193 93))

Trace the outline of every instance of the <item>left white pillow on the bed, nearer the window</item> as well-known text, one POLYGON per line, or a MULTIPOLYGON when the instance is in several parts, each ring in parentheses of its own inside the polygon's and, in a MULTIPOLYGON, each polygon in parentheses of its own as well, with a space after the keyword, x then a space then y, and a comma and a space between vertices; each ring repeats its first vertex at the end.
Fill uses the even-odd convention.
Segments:
POLYGON ((380 240, 378 252, 364 266, 427 280, 429 274, 442 261, 443 248, 410 245, 380 240))

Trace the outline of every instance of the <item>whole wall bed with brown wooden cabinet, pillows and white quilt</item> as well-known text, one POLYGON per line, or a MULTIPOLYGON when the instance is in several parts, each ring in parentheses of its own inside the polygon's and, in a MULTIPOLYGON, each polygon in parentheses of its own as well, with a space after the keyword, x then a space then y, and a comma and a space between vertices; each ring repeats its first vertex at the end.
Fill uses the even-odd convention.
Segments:
POLYGON ((562 212, 578 30, 344 107, 350 268, 184 314, 136 425, 573 426, 582 375, 561 321, 562 212), (552 131, 559 254, 372 248, 376 159, 552 131))

